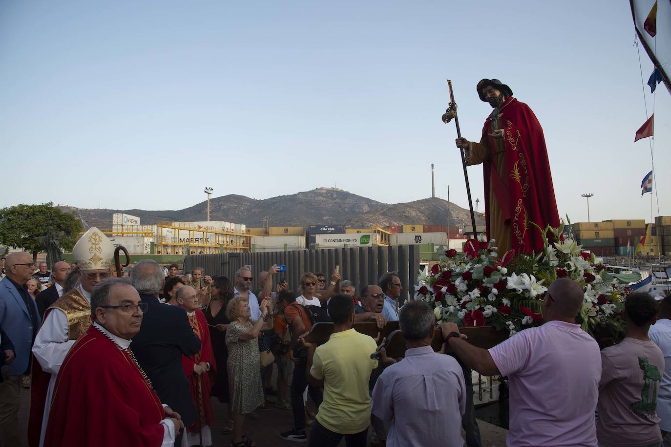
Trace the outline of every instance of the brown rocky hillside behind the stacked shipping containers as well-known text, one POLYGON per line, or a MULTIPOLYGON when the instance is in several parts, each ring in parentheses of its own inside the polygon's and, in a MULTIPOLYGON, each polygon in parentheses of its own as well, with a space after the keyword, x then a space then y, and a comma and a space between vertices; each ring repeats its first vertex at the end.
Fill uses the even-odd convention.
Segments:
MULTIPOLYGON (((110 228, 113 213, 140 217, 142 224, 158 221, 207 220, 207 201, 179 210, 147 211, 144 209, 79 209, 75 211, 85 228, 110 228)), ((470 219, 468 210, 450 204, 452 225, 463 226, 470 219)), ((256 200, 242 195, 225 195, 210 200, 210 219, 262 226, 268 217, 270 226, 309 226, 315 223, 344 223, 350 227, 387 226, 402 223, 446 225, 448 202, 443 199, 421 199, 388 205, 335 188, 318 188, 291 195, 256 200)), ((478 219, 478 224, 482 223, 478 219)))

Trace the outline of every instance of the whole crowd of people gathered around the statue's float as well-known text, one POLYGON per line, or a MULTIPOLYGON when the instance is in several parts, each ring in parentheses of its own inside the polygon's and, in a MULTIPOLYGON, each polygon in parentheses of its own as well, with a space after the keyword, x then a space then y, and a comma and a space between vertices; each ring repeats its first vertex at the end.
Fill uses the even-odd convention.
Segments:
POLYGON ((629 295, 625 338, 600 351, 574 324, 581 287, 558 279, 542 326, 482 349, 442 324, 434 352, 433 310, 399 302, 395 272, 360 292, 337 270, 274 281, 274 265, 256 288, 248 267, 229 279, 153 260, 119 278, 99 235, 91 228, 77 242, 74 268, 36 270, 23 252, 3 259, 0 447, 21 445, 23 377, 32 378, 30 447, 209 446, 217 419, 230 446, 255 446, 246 422, 269 409, 270 395, 293 414, 277 434, 285 440, 366 446, 370 431, 372 446, 462 446, 463 428, 475 447, 471 370, 507 377, 509 446, 671 446, 671 297, 629 295), (333 324, 329 340, 306 342, 322 321, 333 324), (357 332, 362 321, 399 321, 405 356, 390 358, 384 340, 357 332))

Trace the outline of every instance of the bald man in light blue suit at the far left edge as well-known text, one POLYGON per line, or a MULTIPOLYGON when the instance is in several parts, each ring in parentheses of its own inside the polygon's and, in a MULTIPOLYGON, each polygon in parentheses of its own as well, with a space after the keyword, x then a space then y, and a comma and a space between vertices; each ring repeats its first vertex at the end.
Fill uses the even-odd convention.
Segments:
POLYGON ((7 277, 0 281, 0 327, 14 344, 15 358, 3 366, 0 384, 0 446, 18 447, 19 389, 21 375, 30 373, 30 349, 40 327, 40 314, 25 283, 32 277, 32 256, 15 252, 7 256, 7 277))

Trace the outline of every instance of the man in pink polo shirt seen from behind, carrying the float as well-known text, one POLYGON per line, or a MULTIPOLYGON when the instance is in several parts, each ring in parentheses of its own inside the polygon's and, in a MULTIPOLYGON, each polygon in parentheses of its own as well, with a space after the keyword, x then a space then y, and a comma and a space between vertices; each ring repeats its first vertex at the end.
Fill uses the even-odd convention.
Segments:
POLYGON ((442 325, 446 342, 482 375, 510 381, 508 446, 595 447, 595 409, 601 379, 599 345, 574 324, 583 291, 568 278, 550 285, 543 301, 546 323, 515 334, 490 350, 442 325))

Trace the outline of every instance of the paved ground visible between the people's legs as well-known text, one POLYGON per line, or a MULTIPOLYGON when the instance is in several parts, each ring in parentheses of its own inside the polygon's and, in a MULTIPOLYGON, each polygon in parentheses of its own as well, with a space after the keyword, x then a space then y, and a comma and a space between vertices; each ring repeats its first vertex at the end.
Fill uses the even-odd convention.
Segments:
MULTIPOLYGON (((21 408, 19 409, 19 426, 23 434, 23 446, 27 447, 26 430, 28 429, 28 401, 30 393, 27 389, 21 389, 21 408)), ((274 399, 274 398, 270 398, 274 399)), ((224 427, 225 405, 219 403, 217 399, 212 402, 213 411, 215 414, 215 424, 212 428, 213 445, 215 447, 225 447, 231 442, 230 435, 223 435, 221 431, 224 427)), ((291 429, 292 415, 290 410, 282 410, 271 407, 270 411, 255 411, 250 417, 247 434, 256 441, 256 445, 263 446, 297 446, 307 445, 299 444, 297 442, 285 441, 279 437, 280 432, 291 429)), ((478 420, 480 425, 480 435, 482 436, 482 447, 504 447, 505 436, 508 431, 488 424, 482 420, 478 420)), ((369 431, 370 436, 370 431, 369 431)), ((342 446, 345 442, 341 443, 342 446)), ((125 446, 119 446, 125 447, 125 446)))

